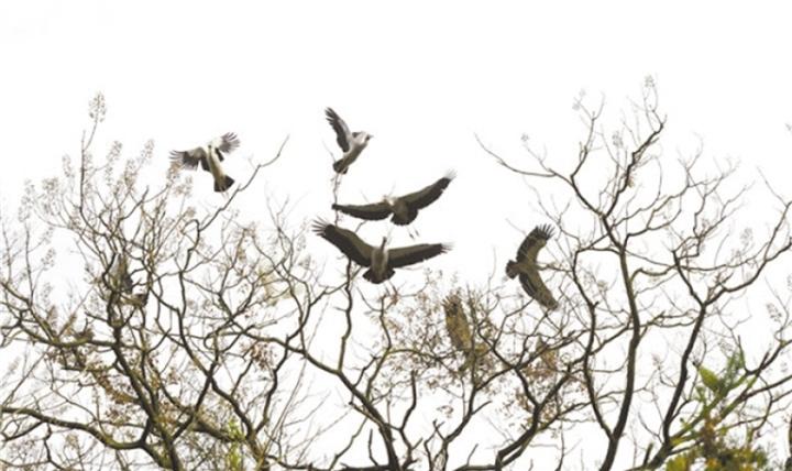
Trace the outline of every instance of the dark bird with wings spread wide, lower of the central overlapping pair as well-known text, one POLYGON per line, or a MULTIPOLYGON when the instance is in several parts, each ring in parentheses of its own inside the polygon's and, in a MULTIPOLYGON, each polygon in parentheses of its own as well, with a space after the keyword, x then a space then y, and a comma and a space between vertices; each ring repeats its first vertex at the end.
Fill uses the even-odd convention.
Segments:
POLYGON ((314 231, 336 245, 354 263, 367 266, 369 270, 363 277, 374 284, 380 284, 393 276, 394 269, 413 265, 451 250, 450 244, 443 243, 421 243, 386 249, 387 238, 383 238, 380 247, 372 247, 363 242, 354 232, 321 220, 315 222, 314 231))

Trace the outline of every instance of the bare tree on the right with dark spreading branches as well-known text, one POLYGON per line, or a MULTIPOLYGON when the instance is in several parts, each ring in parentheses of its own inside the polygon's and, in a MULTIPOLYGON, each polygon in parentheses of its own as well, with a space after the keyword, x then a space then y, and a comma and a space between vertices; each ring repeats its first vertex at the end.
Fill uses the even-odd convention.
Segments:
POLYGON ((781 364, 790 318, 779 313, 789 304, 776 296, 762 316, 769 293, 759 282, 790 250, 790 199, 765 182, 762 204, 751 207, 757 191, 734 182, 736 166, 707 171, 701 151, 676 162, 663 155, 666 118, 651 79, 612 132, 602 106, 581 97, 575 109, 586 133, 568 169, 529 145, 526 168, 488 152, 556 188, 537 191, 537 206, 564 234, 556 256, 563 324, 587 330, 575 346, 584 357, 578 377, 605 443, 597 467, 614 468, 625 437, 634 465, 657 469, 700 448, 705 430, 744 429, 749 441, 772 430, 791 386, 781 364), (765 230, 741 223, 768 200, 776 213, 765 230), (752 327, 766 335, 746 346, 740 329, 752 316, 762 316, 752 327))

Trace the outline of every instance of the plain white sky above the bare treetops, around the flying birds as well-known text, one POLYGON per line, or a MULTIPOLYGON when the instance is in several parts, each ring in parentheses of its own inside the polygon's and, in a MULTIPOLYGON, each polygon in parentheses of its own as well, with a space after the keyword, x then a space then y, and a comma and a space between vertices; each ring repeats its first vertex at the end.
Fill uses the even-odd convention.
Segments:
MULTIPOLYGON (((62 155, 77 154, 88 100, 102 91, 109 114, 98 150, 120 140, 134 155, 154 139, 164 173, 170 149, 234 131, 243 149, 228 172, 241 182, 244 156, 266 161, 290 134, 254 195, 290 197, 293 223, 330 217, 324 145, 337 146, 322 109, 332 106, 353 130, 375 135, 340 199, 410 191, 457 169, 417 228, 422 241, 455 243, 431 266, 473 266, 485 276, 493 250, 501 273, 521 239, 507 220, 526 231, 546 221, 530 210, 525 184, 473 133, 518 162, 526 132, 566 162, 582 136, 571 109, 579 90, 594 101, 604 94, 617 117, 647 75, 669 117, 670 158, 692 151, 698 135, 712 158, 738 158, 749 175, 758 166, 784 188, 792 8, 593 3, 4 0, 0 198, 14 204, 23 179, 59 173, 62 155)), ((197 197, 219 201, 208 175, 195 178, 197 197)), ((378 240, 381 228, 364 236, 378 240)))

